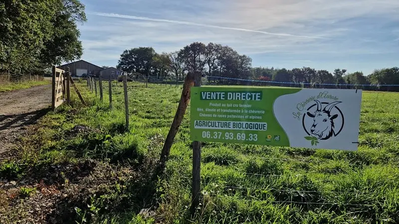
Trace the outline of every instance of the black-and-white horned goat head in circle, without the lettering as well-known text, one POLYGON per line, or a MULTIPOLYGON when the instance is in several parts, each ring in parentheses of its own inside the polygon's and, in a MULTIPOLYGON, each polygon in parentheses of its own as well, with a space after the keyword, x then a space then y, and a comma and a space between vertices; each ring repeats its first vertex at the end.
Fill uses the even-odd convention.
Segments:
POLYGON ((333 103, 314 101, 315 104, 307 109, 302 118, 302 125, 306 133, 305 137, 313 144, 318 140, 327 140, 337 136, 344 127, 344 115, 338 108, 340 101, 333 103), (324 106, 325 105, 325 106, 324 106))

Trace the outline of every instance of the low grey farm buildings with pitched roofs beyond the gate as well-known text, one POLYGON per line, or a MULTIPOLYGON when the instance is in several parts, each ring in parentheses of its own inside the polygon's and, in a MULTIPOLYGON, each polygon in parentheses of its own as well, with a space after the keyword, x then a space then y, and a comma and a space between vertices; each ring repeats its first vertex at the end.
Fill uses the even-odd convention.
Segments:
POLYGON ((104 69, 98 65, 92 64, 84 60, 79 60, 58 66, 58 68, 62 70, 66 70, 67 67, 69 67, 69 72, 71 73, 71 76, 82 76, 83 74, 90 74, 97 77, 102 76, 103 79, 111 78, 115 80, 118 78, 119 75, 122 74, 122 70, 119 70, 117 68, 109 67, 104 69))

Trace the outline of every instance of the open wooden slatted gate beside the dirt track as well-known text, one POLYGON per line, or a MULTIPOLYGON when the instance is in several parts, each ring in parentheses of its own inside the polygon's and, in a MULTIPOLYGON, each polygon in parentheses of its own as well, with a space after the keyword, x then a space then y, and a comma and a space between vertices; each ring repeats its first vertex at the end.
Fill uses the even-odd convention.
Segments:
POLYGON ((65 71, 53 66, 51 108, 54 111, 65 101, 65 71))

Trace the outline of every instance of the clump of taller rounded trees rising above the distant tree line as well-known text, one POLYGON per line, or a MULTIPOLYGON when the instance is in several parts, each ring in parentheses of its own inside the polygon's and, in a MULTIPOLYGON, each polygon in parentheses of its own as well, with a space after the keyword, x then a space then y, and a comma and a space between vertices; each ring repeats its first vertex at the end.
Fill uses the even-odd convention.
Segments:
POLYGON ((188 71, 200 71, 204 76, 247 78, 252 59, 240 55, 229 46, 194 42, 179 51, 156 53, 152 47, 138 47, 121 54, 117 68, 145 76, 165 79, 174 75, 183 79, 188 71))

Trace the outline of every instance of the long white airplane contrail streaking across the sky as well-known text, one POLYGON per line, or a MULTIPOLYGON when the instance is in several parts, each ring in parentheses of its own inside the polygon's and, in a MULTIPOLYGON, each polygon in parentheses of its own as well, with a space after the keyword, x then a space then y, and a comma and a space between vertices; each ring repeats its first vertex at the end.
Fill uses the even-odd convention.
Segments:
POLYGON ((208 28, 218 28, 218 29, 229 29, 229 30, 237 30, 237 31, 245 31, 245 32, 263 33, 263 34, 273 35, 273 36, 289 36, 289 37, 304 37, 304 38, 312 38, 312 39, 326 39, 324 37, 317 37, 317 36, 302 36, 302 35, 294 35, 294 34, 289 34, 289 33, 271 33, 271 32, 264 32, 264 31, 260 31, 260 30, 253 30, 253 29, 216 26, 216 25, 209 25, 209 24, 188 22, 188 21, 181 21, 181 20, 157 19, 157 18, 149 18, 149 17, 142 17, 142 16, 134 16, 134 15, 123 15, 123 14, 117 14, 117 13, 89 12, 87 14, 106 16, 106 17, 115 17, 115 18, 128 18, 128 19, 136 19, 136 20, 155 21, 155 22, 169 22, 169 23, 201 26, 201 27, 208 27, 208 28))

